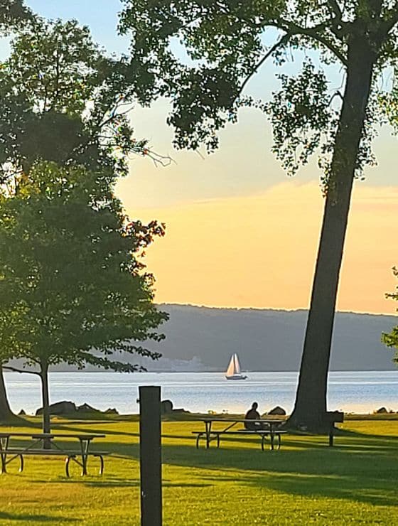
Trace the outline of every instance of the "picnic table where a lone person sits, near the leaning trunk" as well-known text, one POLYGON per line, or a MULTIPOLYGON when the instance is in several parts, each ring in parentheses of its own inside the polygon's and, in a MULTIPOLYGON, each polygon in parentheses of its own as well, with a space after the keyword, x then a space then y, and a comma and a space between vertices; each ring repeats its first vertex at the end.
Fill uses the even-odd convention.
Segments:
POLYGON ((286 433, 279 426, 284 422, 284 419, 242 419, 242 418, 213 418, 205 417, 200 419, 200 422, 205 424, 205 429, 202 431, 192 431, 196 435, 196 448, 199 448, 199 441, 201 438, 205 439, 206 449, 209 449, 210 442, 217 441, 217 448, 220 447, 221 436, 235 434, 240 436, 257 435, 261 437, 261 446, 264 451, 264 441, 269 437, 270 449, 274 450, 275 439, 277 439, 277 449, 281 448, 281 434, 286 433), (219 422, 225 424, 222 429, 214 429, 213 424, 219 422), (238 424, 252 424, 257 425, 258 429, 236 429, 238 424), (235 428, 235 429, 233 429, 235 428))

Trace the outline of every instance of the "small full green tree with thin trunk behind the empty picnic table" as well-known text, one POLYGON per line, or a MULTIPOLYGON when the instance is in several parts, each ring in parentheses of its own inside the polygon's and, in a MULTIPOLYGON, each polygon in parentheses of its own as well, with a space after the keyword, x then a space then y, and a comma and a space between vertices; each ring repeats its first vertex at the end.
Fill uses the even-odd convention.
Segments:
POLYGON ((0 359, 38 370, 44 432, 51 365, 132 372, 124 353, 158 358, 139 344, 161 340, 168 317, 139 257, 156 235, 156 222, 127 222, 106 172, 37 163, 16 196, 1 198, 0 359))

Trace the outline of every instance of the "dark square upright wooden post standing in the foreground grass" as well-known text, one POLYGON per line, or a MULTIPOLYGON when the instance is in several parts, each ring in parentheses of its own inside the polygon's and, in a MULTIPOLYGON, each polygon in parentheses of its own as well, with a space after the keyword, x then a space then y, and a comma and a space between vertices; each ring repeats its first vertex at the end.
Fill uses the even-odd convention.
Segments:
POLYGON ((162 524, 161 388, 139 387, 141 526, 162 524))

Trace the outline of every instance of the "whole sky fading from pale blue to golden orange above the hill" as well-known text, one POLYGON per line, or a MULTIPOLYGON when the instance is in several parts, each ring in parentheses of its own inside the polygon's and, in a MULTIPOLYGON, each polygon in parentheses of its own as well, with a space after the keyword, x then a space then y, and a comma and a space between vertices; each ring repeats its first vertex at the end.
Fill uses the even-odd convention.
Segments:
MULTIPOLYGON (((119 0, 28 0, 47 18, 77 18, 109 52, 126 53, 117 36, 119 0)), ((299 57, 286 65, 291 72, 299 57)), ((272 63, 247 85, 247 94, 267 99, 278 86, 272 63)), ((329 70, 330 90, 340 85, 329 70)), ((173 149, 166 125, 168 102, 135 107, 137 138, 170 155, 171 166, 131 159, 117 193, 131 218, 166 222, 166 236, 148 249, 146 264, 156 277, 158 303, 255 308, 308 308, 323 213, 316 160, 294 178, 271 153, 271 127, 255 109, 220 133, 210 156, 173 149)), ((378 165, 356 181, 340 274, 338 310, 396 311, 385 299, 394 291, 398 266, 398 139, 382 129, 375 139, 378 165)))

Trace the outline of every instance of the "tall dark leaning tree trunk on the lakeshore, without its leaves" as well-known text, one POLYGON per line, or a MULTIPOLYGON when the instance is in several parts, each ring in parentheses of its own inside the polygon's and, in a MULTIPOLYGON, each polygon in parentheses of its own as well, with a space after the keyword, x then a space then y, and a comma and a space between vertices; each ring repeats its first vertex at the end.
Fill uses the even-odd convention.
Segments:
POLYGON ((343 107, 326 197, 311 306, 301 358, 294 412, 288 426, 323 431, 335 302, 351 190, 370 95, 374 55, 362 36, 351 38, 343 107))

